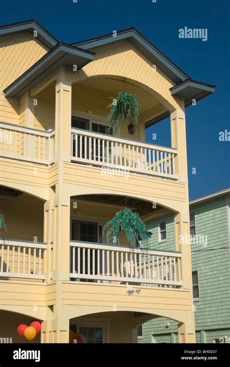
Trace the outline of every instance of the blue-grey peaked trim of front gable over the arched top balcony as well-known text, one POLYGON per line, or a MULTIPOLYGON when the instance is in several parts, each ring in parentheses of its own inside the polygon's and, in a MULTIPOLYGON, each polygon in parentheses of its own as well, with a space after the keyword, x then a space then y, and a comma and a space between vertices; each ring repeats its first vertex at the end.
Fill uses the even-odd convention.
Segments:
POLYGON ((169 60, 158 48, 152 45, 134 27, 116 32, 116 37, 110 33, 100 37, 76 42, 72 45, 81 47, 82 49, 91 49, 123 39, 128 39, 131 44, 141 53, 143 53, 153 64, 158 64, 159 68, 176 84, 186 79, 190 79, 190 77, 183 70, 169 60))

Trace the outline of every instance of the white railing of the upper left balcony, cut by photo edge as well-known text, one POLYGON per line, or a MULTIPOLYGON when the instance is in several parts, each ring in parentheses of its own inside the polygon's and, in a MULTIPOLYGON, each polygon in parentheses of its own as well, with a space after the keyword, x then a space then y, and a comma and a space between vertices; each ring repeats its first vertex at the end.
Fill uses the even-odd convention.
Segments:
POLYGON ((54 131, 0 123, 0 157, 50 164, 54 161, 54 131))

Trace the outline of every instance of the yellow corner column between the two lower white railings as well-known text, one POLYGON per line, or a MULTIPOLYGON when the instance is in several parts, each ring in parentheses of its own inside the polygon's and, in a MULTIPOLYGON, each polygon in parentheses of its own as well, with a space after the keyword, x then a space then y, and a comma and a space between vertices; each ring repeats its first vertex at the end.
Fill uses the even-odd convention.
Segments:
POLYGON ((69 280, 70 197, 54 196, 52 280, 69 280))

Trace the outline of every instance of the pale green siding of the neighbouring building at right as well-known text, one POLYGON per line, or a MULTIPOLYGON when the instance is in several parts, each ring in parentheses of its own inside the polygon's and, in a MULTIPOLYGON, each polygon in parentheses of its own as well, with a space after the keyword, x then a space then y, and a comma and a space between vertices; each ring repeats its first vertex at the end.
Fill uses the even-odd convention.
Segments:
MULTIPOLYGON (((213 339, 219 335, 229 333, 230 328, 230 253, 226 198, 219 197, 190 205, 190 212, 195 213, 196 234, 207 235, 208 239, 207 246, 205 243, 199 244, 198 241, 191 245, 192 270, 198 271, 199 282, 199 301, 194 302, 196 341, 200 342, 200 331, 204 330, 206 342, 213 343, 213 339)), ((153 233, 150 241, 156 243, 158 222, 163 218, 166 220, 167 229, 164 248, 171 250, 170 246, 174 245, 174 228, 173 225, 170 227, 172 216, 159 218, 157 222, 151 221, 146 225, 153 233)), ((162 246, 162 243, 158 243, 159 249, 162 246)), ((170 322, 170 333, 177 333, 177 322, 166 318, 154 319, 144 324, 143 339, 140 342, 148 343, 149 335, 164 334, 167 322, 170 322)), ((166 334, 165 332, 164 340, 167 340, 166 334)))

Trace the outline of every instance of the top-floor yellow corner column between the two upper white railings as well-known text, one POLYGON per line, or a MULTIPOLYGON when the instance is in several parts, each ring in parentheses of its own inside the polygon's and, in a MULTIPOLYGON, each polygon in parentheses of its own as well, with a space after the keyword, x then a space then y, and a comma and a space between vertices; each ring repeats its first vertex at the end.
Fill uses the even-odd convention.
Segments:
POLYGON ((54 161, 70 162, 71 156, 71 83, 66 80, 65 67, 57 75, 55 89, 55 152, 54 161))

